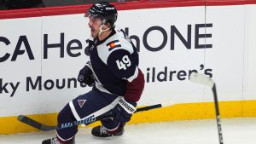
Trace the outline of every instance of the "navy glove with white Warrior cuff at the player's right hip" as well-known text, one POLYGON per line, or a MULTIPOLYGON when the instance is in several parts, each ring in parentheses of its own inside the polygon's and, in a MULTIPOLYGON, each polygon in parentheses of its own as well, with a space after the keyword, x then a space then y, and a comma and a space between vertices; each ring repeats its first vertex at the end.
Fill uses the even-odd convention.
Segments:
POLYGON ((119 100, 119 103, 113 107, 113 121, 114 122, 129 122, 132 114, 137 110, 136 102, 125 101, 124 98, 119 100))

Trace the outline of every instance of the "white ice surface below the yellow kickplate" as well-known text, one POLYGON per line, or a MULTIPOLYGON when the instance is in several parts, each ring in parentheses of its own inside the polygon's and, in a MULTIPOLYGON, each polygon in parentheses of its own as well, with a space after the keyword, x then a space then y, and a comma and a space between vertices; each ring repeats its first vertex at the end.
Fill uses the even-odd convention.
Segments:
MULTIPOLYGON (((256 118, 223 118, 224 144, 256 144, 256 118)), ((91 128, 79 129, 76 144, 218 144, 215 119, 128 124, 125 134, 100 139, 90 135, 91 128)), ((41 144, 55 131, 0 135, 1 144, 41 144)))

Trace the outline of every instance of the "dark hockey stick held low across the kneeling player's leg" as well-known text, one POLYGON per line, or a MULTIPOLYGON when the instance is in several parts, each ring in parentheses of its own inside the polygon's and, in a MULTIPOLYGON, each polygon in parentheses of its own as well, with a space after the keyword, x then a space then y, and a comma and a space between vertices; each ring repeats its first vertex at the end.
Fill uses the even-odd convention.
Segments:
MULTIPOLYGON (((173 102, 167 102, 167 103, 163 103, 163 104, 156 104, 156 105, 152 105, 152 106, 148 106, 148 107, 141 107, 141 108, 137 108, 136 112, 143 112, 143 111, 148 111, 151 109, 155 109, 155 108, 160 108, 160 107, 168 107, 168 106, 172 106, 174 105, 173 102)), ((113 114, 108 114, 108 115, 102 115, 102 116, 98 116, 95 117, 94 115, 90 116, 89 118, 84 118, 83 120, 79 120, 79 121, 74 121, 74 122, 70 122, 70 123, 65 123, 65 124, 60 124, 60 125, 55 125, 55 126, 49 126, 46 124, 41 124, 35 120, 33 120, 32 118, 28 118, 24 115, 19 115, 18 116, 18 120, 22 123, 28 124, 38 130, 43 130, 43 131, 49 131, 49 130, 59 130, 59 129, 64 129, 64 128, 69 128, 69 127, 73 127, 76 126, 78 124, 91 124, 94 123, 98 120, 104 119, 104 118, 113 118, 113 114)))

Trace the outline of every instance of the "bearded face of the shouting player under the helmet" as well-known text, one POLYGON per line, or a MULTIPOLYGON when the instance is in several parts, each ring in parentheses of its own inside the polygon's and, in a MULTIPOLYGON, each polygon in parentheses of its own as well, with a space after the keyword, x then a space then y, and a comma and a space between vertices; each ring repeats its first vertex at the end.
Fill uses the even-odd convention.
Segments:
POLYGON ((100 27, 102 26, 102 20, 97 17, 89 17, 88 26, 90 27, 91 37, 96 38, 100 32, 100 27))

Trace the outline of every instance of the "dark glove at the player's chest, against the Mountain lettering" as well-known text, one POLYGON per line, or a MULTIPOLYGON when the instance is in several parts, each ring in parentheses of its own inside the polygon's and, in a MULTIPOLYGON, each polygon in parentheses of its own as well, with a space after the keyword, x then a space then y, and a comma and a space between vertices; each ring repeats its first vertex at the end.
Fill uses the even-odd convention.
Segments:
POLYGON ((94 75, 90 70, 90 61, 86 63, 86 65, 80 70, 78 81, 83 84, 87 84, 88 86, 92 86, 95 82, 94 75))

